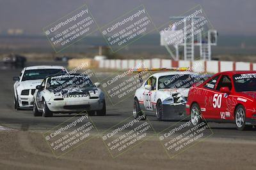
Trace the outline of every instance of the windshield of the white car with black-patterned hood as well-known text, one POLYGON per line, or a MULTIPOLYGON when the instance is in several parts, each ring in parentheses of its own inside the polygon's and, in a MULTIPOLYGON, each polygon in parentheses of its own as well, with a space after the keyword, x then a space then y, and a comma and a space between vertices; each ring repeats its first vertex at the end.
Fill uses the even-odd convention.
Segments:
POLYGON ((92 87, 92 81, 87 77, 58 77, 51 78, 47 82, 47 89, 69 89, 71 87, 86 88, 92 87))

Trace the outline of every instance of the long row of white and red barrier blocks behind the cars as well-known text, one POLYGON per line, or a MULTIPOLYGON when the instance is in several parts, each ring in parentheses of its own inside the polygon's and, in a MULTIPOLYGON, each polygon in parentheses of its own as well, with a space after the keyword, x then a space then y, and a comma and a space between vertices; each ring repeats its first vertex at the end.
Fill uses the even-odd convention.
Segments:
POLYGON ((195 72, 206 71, 207 73, 219 73, 223 71, 256 70, 256 63, 233 62, 217 60, 170 60, 170 59, 129 59, 129 60, 99 60, 99 67, 105 69, 131 69, 138 68, 170 68, 170 67, 191 67, 195 72))

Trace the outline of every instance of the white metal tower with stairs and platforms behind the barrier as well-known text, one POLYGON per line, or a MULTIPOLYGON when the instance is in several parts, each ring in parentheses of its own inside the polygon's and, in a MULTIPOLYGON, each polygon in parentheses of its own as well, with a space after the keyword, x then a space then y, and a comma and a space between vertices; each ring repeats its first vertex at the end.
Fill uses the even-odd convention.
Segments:
MULTIPOLYGON (((179 60, 179 49, 183 48, 184 60, 195 60, 195 48, 199 47, 200 59, 211 60, 211 46, 217 45, 217 31, 208 29, 205 25, 196 25, 202 17, 170 17, 172 21, 179 20, 182 23, 180 29, 173 27, 161 33, 161 45, 165 46, 175 60, 179 60), (196 23, 196 24, 195 24, 196 23), (175 49, 175 55, 172 49, 175 49)), ((207 22, 207 20, 206 20, 207 22)), ((175 26, 175 25, 174 25, 175 26)))

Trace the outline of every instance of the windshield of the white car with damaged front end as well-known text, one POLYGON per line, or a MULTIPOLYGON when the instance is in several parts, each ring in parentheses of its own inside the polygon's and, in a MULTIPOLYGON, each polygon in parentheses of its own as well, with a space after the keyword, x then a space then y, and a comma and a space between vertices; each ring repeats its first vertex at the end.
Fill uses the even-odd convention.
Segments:
POLYGON ((158 89, 190 88, 194 83, 204 80, 204 76, 197 74, 175 74, 161 76, 158 80, 158 89))

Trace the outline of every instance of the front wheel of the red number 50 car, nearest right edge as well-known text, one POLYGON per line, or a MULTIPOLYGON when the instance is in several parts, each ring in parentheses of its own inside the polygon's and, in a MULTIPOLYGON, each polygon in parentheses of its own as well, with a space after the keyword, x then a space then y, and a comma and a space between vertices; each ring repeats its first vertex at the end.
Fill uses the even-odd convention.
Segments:
POLYGON ((243 131, 243 130, 252 128, 252 126, 250 126, 250 125, 245 125, 245 118, 246 118, 246 114, 245 114, 244 106, 239 105, 236 108, 236 112, 235 112, 236 128, 239 131, 243 131))

